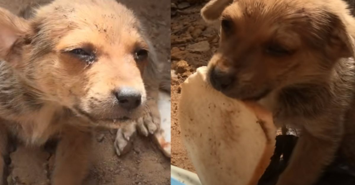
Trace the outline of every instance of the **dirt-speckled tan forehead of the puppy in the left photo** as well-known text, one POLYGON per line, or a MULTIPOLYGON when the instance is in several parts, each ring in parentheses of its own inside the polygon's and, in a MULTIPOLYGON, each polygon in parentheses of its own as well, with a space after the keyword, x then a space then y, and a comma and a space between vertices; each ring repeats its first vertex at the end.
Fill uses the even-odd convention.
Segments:
POLYGON ((36 20, 51 38, 75 33, 74 42, 91 37, 110 45, 122 37, 141 39, 140 23, 133 12, 114 0, 57 0, 39 9, 36 20))

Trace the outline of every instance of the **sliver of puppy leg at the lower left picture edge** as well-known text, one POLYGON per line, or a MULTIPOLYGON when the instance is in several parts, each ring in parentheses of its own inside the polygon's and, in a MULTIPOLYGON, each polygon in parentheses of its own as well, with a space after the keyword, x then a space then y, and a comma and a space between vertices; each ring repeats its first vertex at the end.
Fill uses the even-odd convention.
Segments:
POLYGON ((8 144, 7 130, 5 128, 5 125, 0 123, 0 185, 3 185, 5 181, 4 171, 6 165, 5 165, 4 156, 8 152, 7 144, 8 144))

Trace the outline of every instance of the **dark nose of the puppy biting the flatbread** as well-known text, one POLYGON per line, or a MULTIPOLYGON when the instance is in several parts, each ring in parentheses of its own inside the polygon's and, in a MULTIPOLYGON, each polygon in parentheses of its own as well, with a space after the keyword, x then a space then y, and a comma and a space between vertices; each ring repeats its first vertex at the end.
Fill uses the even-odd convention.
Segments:
POLYGON ((213 88, 218 91, 229 88, 234 82, 234 77, 232 75, 222 72, 216 67, 213 68, 209 74, 209 79, 213 88))

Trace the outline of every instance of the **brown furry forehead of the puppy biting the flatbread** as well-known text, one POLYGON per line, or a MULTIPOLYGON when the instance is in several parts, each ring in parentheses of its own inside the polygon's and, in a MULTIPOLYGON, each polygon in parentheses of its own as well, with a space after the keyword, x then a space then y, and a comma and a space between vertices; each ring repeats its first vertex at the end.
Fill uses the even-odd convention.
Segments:
MULTIPOLYGON (((342 4, 331 0, 237 0, 222 13, 231 19, 235 30, 244 35, 263 35, 265 39, 285 34, 299 35, 312 45, 321 45, 335 24, 339 24, 342 4)), ((343 7, 344 8, 344 7, 343 7)), ((338 25, 339 26, 339 25, 338 25)))

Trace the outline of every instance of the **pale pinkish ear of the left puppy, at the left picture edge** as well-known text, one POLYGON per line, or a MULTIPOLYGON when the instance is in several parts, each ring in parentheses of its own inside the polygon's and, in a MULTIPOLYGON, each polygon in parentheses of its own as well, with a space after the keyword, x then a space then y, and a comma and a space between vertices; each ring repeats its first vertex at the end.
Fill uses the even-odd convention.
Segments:
POLYGON ((0 59, 5 60, 11 48, 29 30, 29 23, 11 12, 0 8, 0 59))

